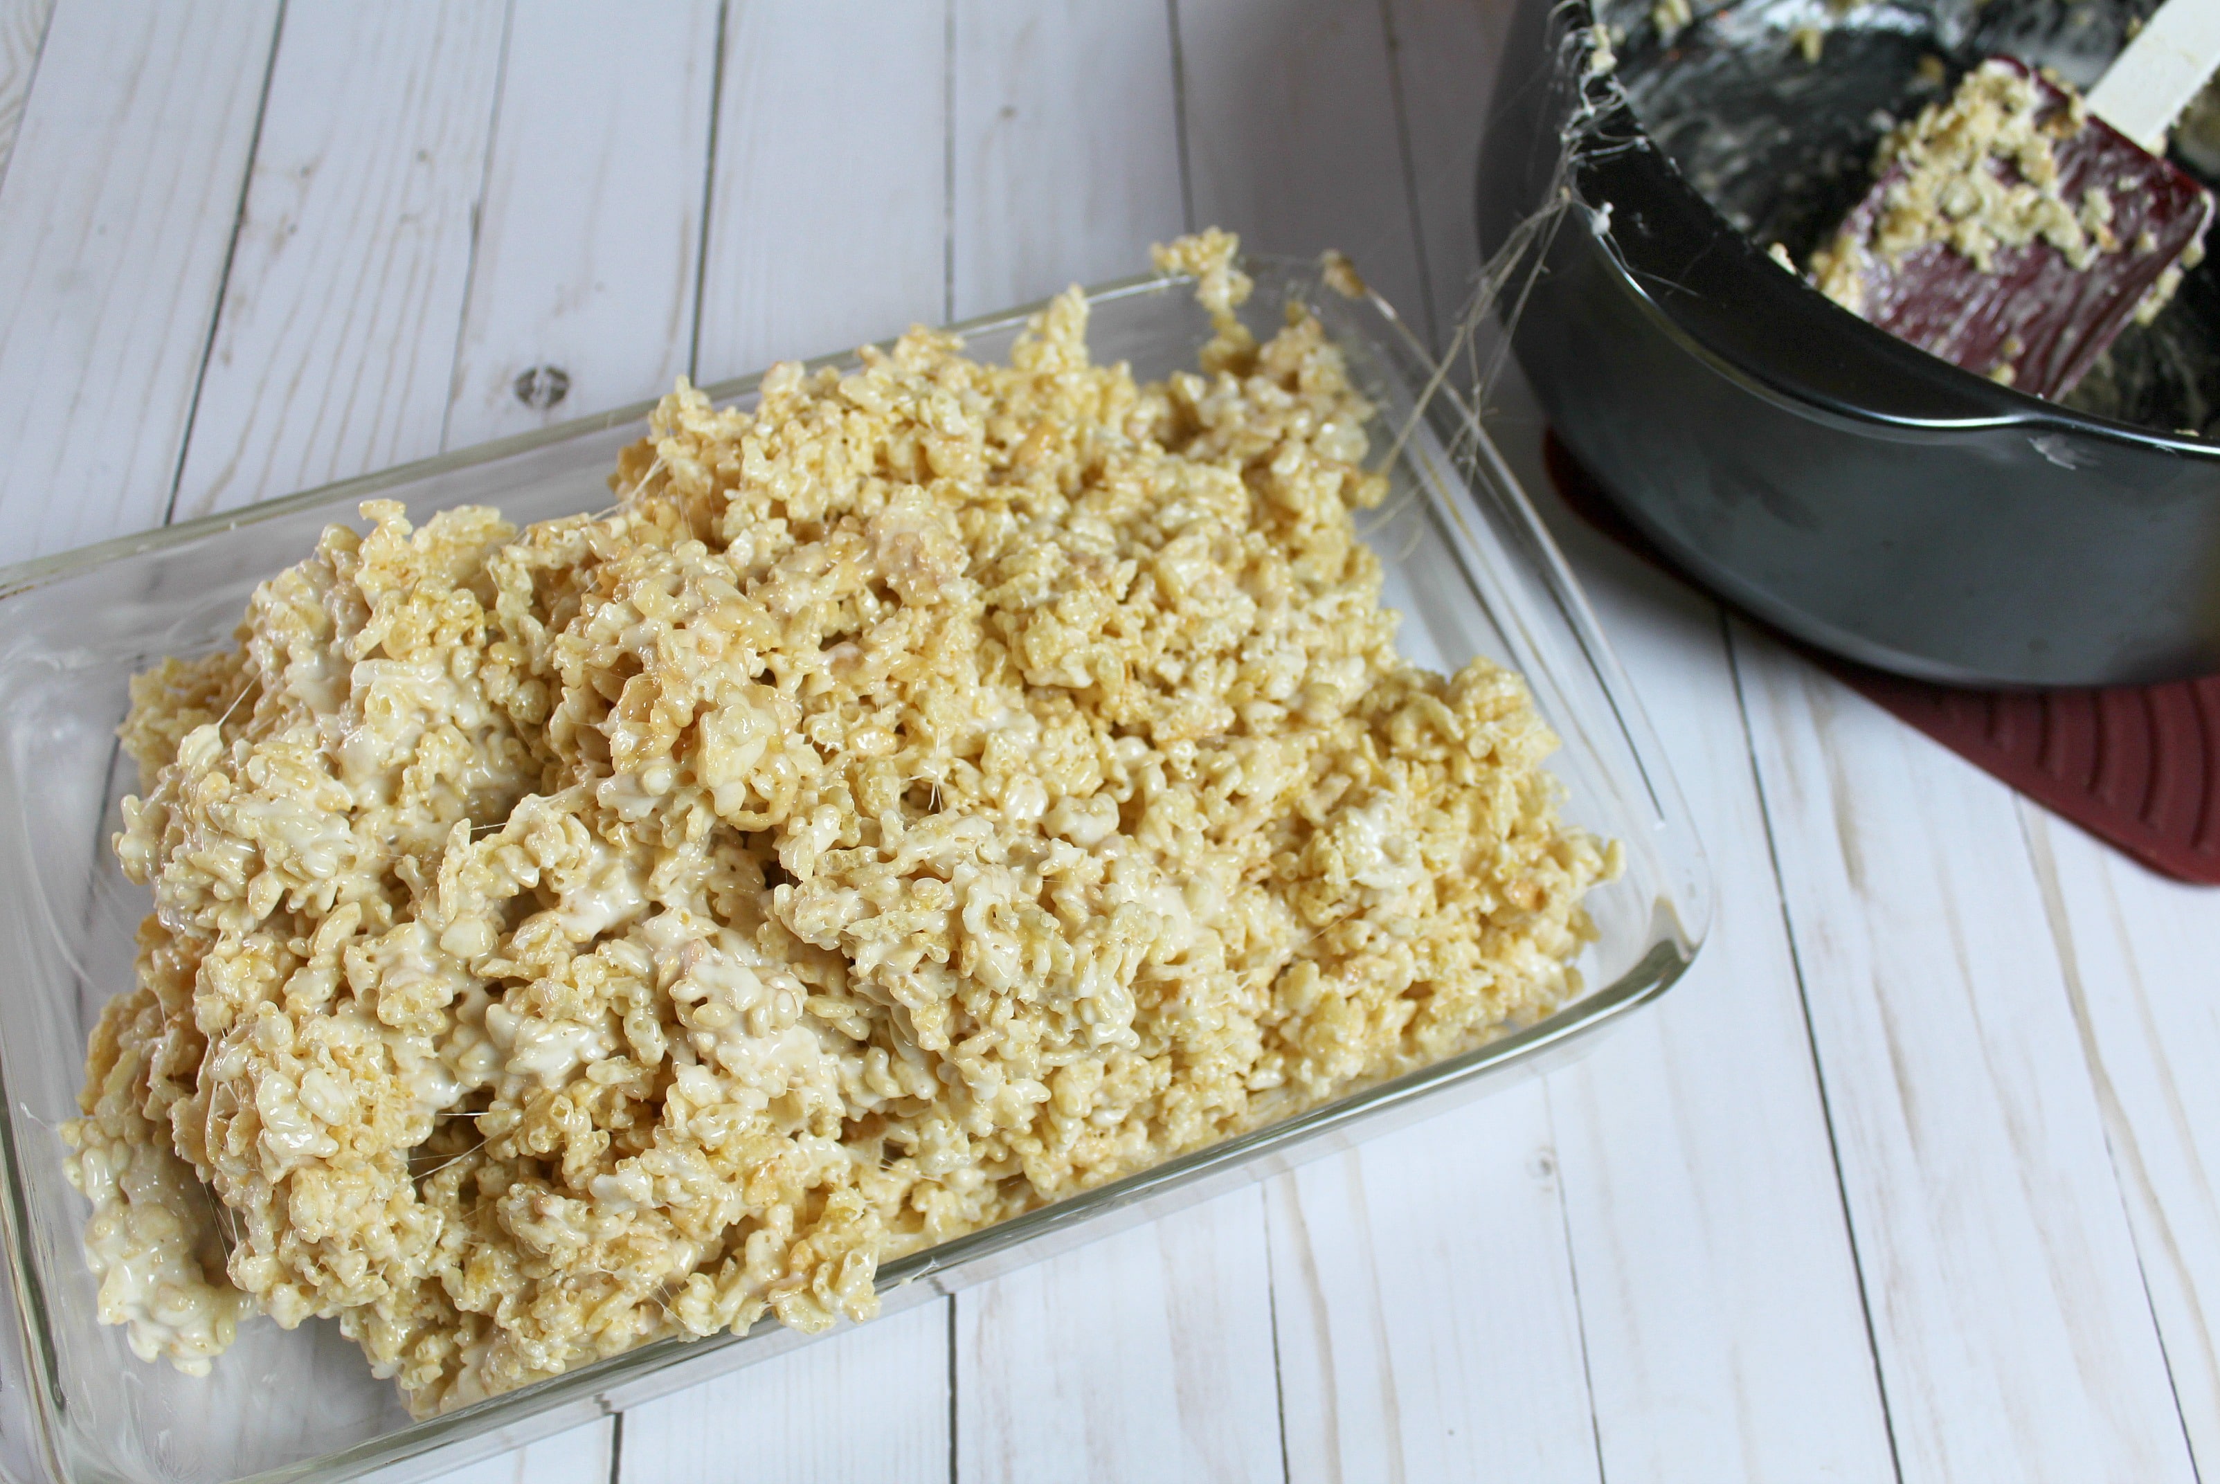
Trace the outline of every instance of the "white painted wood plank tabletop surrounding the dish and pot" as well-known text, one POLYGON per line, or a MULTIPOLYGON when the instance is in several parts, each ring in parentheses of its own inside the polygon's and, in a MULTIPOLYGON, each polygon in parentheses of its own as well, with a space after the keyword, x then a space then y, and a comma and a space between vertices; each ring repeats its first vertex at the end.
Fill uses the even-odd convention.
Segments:
MULTIPOLYGON (((1503 20, 0 0, 0 561, 1208 222, 1439 333, 1503 20)), ((1696 972, 1550 1080, 453 1484, 2220 1475, 2220 894, 1563 519, 1525 408, 1705 830, 1696 972)))

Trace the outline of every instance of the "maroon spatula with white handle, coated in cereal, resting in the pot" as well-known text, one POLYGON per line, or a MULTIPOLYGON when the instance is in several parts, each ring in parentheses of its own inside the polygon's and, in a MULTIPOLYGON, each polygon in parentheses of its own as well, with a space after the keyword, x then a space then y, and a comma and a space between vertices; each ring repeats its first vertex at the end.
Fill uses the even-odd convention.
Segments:
MULTIPOLYGON (((2153 288, 2164 297, 2169 271, 2202 251, 2211 195, 2147 144, 2162 149, 2216 64, 2220 0, 2169 0, 2151 16, 2091 89, 2078 126, 2073 98, 2049 78, 2009 58, 1985 62, 1914 126, 1911 149, 1898 149, 1845 217, 1814 260, 1820 284, 1898 339, 2062 397, 2153 288), (1982 89, 2031 102, 2034 129, 2018 144, 1987 153, 1969 102, 1982 89), (1954 175, 1951 160, 1976 162, 1954 175)), ((1987 120, 1998 115, 1991 106, 1987 120)))

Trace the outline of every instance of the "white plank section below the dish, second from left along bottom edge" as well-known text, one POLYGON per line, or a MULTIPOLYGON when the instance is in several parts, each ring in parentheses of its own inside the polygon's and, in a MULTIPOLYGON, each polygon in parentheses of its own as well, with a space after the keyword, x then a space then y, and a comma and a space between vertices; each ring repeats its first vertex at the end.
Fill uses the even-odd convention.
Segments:
POLYGON ((948 1300, 624 1413, 610 1484, 726 1480, 948 1480, 948 1300))

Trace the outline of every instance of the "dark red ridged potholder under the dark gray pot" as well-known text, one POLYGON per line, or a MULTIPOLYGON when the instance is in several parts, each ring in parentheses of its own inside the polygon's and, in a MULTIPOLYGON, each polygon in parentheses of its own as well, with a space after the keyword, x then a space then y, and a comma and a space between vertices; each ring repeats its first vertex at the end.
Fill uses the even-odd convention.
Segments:
MULTIPOLYGON (((1681 577, 1554 435, 1545 455, 1567 506, 1681 577)), ((1876 705, 2145 865, 2220 885, 2220 677, 2105 690, 1958 690, 1869 670, 1772 632, 1876 705)))

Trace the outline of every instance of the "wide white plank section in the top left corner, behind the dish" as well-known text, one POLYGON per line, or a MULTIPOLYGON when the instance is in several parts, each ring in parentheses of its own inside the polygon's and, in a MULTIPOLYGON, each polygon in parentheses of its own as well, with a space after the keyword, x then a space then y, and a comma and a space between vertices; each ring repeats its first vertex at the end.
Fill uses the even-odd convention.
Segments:
POLYGON ((275 18, 67 7, 47 29, 0 182, 0 559, 162 524, 275 18))

